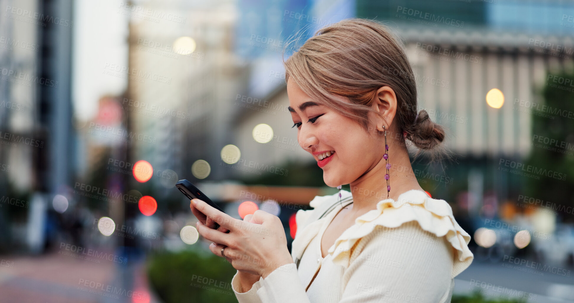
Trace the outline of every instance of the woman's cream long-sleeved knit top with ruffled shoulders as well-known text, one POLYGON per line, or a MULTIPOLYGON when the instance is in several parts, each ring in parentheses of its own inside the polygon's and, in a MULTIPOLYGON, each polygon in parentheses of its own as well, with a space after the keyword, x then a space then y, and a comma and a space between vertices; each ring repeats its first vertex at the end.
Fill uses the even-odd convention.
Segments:
MULTIPOLYGON (((346 190, 341 194, 351 196, 346 190)), ((316 196, 309 205, 317 209, 338 196, 316 196)), ((454 278, 474 258, 467 246, 470 235, 456 223, 451 206, 424 191, 379 201, 335 240, 325 258, 320 240, 342 207, 304 226, 315 209, 296 214, 293 259, 309 244, 298 270, 295 263, 278 267, 245 293, 238 292, 235 274, 231 285, 239 303, 450 302, 454 278)))

